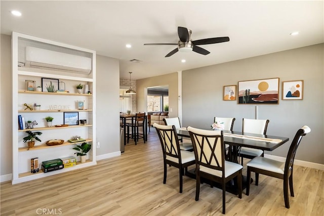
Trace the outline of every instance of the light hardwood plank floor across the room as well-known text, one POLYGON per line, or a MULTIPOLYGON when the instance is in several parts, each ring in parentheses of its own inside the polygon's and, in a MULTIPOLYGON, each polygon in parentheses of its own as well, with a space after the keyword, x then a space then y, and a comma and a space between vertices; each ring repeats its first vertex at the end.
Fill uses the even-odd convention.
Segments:
MULTIPOLYGON (((121 156, 97 166, 17 185, 2 183, 1 215, 222 215, 220 189, 203 184, 195 201, 195 180, 185 176, 180 194, 178 173, 168 166, 163 184, 161 147, 151 128, 147 143, 130 143, 121 156)), ((295 165, 295 197, 287 209, 282 180, 260 175, 250 196, 245 190, 242 199, 226 193, 226 214, 324 215, 323 180, 322 170, 295 165)))

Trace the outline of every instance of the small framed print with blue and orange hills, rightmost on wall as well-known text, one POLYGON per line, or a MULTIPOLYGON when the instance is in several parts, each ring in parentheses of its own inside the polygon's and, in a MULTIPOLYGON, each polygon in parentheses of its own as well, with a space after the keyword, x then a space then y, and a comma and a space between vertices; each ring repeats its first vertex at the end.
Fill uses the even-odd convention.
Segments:
POLYGON ((282 82, 282 100, 303 100, 304 80, 282 82))

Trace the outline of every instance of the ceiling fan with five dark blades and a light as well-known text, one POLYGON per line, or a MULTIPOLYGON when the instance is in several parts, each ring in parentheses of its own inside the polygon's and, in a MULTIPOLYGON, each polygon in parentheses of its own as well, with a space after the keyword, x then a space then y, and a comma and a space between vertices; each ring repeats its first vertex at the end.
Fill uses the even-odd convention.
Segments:
POLYGON ((178 45, 176 49, 168 53, 165 57, 170 57, 173 54, 177 53, 178 51, 181 52, 196 52, 203 55, 210 54, 209 51, 198 47, 197 45, 208 45, 208 44, 217 44, 221 42, 229 41, 229 37, 212 37, 212 38, 205 38, 199 40, 192 40, 191 39, 191 30, 185 27, 178 27, 178 35, 179 41, 178 44, 171 44, 171 43, 160 43, 160 44, 144 44, 144 45, 178 45))

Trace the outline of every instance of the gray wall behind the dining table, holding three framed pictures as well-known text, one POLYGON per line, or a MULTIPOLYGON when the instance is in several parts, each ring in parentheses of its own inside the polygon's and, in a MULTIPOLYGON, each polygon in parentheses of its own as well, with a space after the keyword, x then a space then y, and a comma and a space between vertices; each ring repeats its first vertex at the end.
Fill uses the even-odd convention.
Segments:
POLYGON ((259 105, 259 119, 269 119, 267 134, 289 137, 289 143, 272 152, 286 157, 294 135, 303 125, 311 133, 303 138, 296 159, 324 164, 323 44, 278 52, 182 72, 182 125, 210 127, 214 116, 255 118, 255 105, 223 101, 223 86, 238 81, 279 77, 278 105, 259 105), (281 100, 282 81, 304 80, 303 100, 281 100))

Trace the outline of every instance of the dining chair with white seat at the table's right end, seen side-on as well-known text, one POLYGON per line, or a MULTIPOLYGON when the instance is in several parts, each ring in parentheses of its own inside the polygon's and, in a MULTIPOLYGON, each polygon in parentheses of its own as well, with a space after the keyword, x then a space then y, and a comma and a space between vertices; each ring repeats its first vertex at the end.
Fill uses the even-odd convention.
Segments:
MULTIPOLYGON (((302 140, 302 137, 310 132, 308 126, 303 126, 298 129, 292 144, 290 145, 286 162, 280 162, 265 157, 255 157, 247 163, 248 166, 248 179, 251 178, 251 172, 256 174, 263 174, 266 176, 278 178, 284 180, 284 198, 285 206, 289 208, 289 195, 288 195, 288 184, 290 188, 290 195, 294 196, 294 187, 293 187, 293 168, 294 168, 294 159, 297 148, 302 140)), ((250 194, 250 184, 247 185, 247 195, 250 194)))

